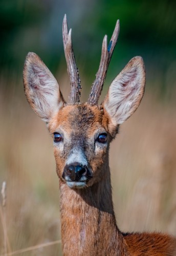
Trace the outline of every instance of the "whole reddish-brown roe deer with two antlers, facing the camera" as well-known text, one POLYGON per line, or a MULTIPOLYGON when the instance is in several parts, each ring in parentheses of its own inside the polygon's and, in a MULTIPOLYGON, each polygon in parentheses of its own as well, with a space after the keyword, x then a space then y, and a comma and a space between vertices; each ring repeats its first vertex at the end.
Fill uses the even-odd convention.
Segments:
POLYGON ((143 59, 137 56, 127 63, 98 105, 118 39, 118 20, 108 46, 107 36, 103 39, 100 66, 89 99, 80 103, 80 78, 66 15, 62 31, 71 81, 68 103, 56 79, 35 53, 27 55, 24 86, 31 108, 47 123, 54 139, 63 254, 176 255, 175 238, 168 234, 121 232, 113 209, 109 143, 118 133, 119 125, 136 111, 143 97, 143 59))

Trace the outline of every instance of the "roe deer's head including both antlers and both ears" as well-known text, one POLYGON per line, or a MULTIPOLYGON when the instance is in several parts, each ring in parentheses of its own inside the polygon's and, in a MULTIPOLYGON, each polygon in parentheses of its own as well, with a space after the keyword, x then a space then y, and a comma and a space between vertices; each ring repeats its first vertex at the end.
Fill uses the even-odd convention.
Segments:
POLYGON ((72 48, 72 30, 63 19, 63 46, 71 82, 68 103, 49 69, 35 53, 29 53, 24 67, 25 94, 34 112, 47 123, 54 140, 57 174, 71 188, 92 186, 106 177, 109 143, 118 127, 138 108, 144 94, 145 69, 141 57, 131 59, 113 80, 98 105, 109 61, 119 34, 117 21, 107 46, 105 35, 99 70, 89 99, 80 103, 80 78, 72 48))

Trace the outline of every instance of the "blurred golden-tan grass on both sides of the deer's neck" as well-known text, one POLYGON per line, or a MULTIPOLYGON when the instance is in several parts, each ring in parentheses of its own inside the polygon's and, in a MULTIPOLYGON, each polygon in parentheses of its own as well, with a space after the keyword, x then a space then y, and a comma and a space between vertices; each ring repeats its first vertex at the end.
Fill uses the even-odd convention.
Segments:
MULTIPOLYGON (((60 240, 59 184, 45 124, 21 89, 0 91, 0 184, 7 182, 9 250, 60 240)), ((176 235, 176 118, 173 102, 146 91, 139 110, 112 143, 110 166, 117 222, 124 231, 176 235)), ((0 223, 0 253, 4 253, 0 223)), ((61 244, 20 255, 61 255, 61 244)))

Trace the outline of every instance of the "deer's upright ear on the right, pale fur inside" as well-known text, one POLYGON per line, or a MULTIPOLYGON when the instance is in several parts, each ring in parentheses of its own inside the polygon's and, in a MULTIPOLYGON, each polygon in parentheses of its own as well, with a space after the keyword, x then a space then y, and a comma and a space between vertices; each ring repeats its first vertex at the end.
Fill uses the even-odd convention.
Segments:
POLYGON ((138 108, 144 94, 145 68, 141 57, 131 59, 114 79, 102 103, 110 122, 117 127, 138 108))

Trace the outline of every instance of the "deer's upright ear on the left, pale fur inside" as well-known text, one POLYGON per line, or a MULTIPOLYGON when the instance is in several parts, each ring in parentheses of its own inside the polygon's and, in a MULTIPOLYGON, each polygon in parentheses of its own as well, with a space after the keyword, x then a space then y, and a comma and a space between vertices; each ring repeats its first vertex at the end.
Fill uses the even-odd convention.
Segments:
POLYGON ((35 53, 28 53, 23 72, 25 95, 34 112, 49 122, 63 106, 58 83, 35 53))

